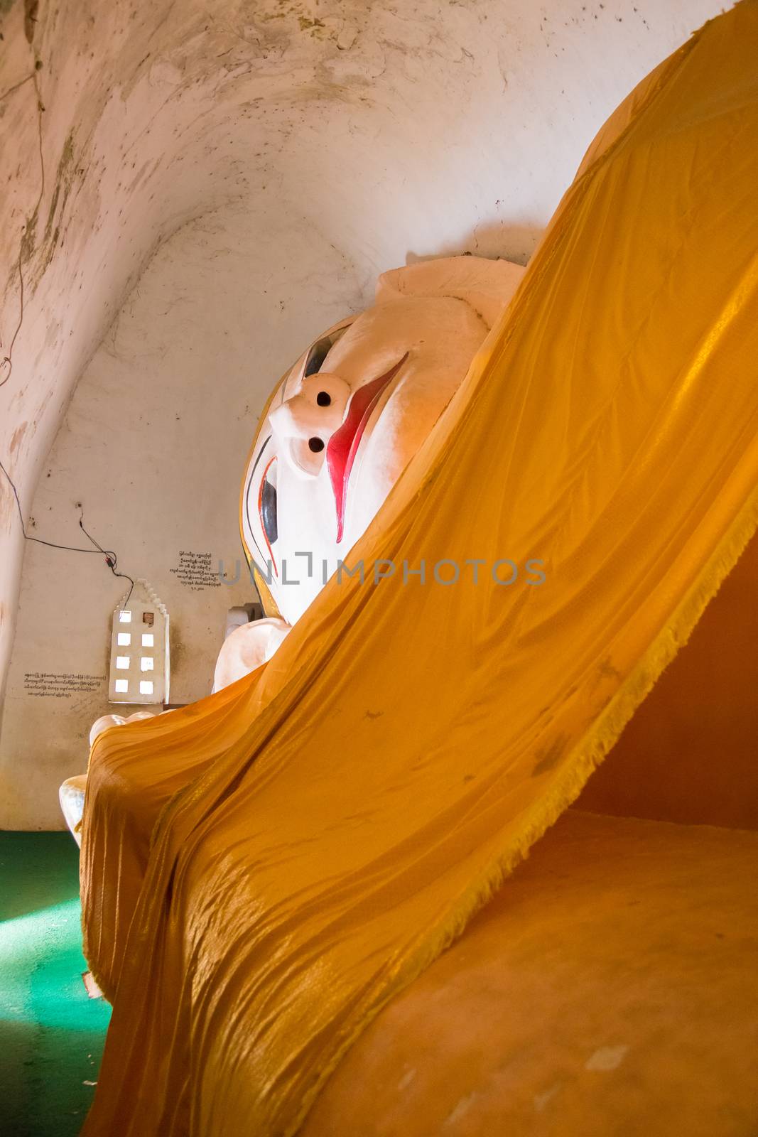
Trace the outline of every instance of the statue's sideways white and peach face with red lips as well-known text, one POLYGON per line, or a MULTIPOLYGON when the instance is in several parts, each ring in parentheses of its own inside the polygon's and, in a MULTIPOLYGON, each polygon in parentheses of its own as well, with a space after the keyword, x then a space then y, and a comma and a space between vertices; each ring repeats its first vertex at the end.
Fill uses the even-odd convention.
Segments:
POLYGON ((325 332, 283 377, 251 449, 241 526, 288 623, 338 561, 351 566, 351 547, 463 381, 522 273, 474 257, 386 273, 376 305, 325 332))

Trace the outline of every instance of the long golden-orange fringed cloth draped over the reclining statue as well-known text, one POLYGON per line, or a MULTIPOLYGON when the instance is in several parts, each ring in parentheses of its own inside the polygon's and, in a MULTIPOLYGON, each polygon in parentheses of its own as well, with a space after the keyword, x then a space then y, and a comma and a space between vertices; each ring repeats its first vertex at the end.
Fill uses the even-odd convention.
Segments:
POLYGON ((86 1137, 297 1132, 734 565, 758 518, 757 59, 749 0, 603 128, 348 558, 365 582, 330 582, 248 679, 97 740, 84 920, 115 1005, 86 1137), (544 583, 495 583, 506 558, 544 583), (375 584, 376 559, 398 571, 375 584))

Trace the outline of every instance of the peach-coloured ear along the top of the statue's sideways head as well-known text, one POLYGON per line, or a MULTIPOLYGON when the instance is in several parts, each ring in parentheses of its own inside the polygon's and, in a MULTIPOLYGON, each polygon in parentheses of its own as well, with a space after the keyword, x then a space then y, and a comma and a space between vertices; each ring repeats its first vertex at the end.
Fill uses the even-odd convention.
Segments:
POLYGON ((443 257, 419 260, 406 268, 382 273, 376 302, 402 297, 453 297, 465 300, 488 327, 498 321, 525 273, 523 265, 484 257, 443 257))

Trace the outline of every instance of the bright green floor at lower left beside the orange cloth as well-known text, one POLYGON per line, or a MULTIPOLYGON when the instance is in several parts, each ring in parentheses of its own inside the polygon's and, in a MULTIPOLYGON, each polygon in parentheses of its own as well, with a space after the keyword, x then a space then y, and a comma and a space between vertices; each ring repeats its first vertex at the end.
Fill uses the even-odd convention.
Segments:
POLYGON ((78 849, 68 833, 0 832, 0 1134, 74 1137, 110 1007, 82 984, 78 849))

